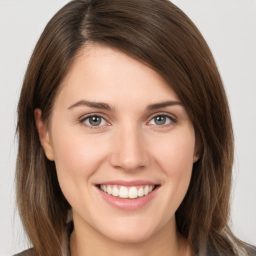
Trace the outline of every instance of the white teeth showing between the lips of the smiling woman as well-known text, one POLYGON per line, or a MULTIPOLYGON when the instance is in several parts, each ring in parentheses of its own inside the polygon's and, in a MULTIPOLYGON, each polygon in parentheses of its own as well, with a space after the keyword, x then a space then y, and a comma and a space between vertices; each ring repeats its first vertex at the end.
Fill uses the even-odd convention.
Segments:
POLYGON ((157 185, 140 185, 140 186, 120 186, 120 185, 97 185, 98 188, 109 194, 118 198, 128 198, 135 199, 137 197, 142 197, 144 195, 152 192, 157 185))

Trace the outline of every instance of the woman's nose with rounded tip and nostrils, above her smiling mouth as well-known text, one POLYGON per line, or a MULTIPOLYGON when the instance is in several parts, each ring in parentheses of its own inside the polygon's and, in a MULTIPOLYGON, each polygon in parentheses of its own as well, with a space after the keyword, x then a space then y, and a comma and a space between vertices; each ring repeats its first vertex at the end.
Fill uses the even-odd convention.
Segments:
POLYGON ((150 157, 145 141, 135 127, 125 127, 116 131, 110 155, 110 164, 125 171, 136 171, 148 166, 150 157))

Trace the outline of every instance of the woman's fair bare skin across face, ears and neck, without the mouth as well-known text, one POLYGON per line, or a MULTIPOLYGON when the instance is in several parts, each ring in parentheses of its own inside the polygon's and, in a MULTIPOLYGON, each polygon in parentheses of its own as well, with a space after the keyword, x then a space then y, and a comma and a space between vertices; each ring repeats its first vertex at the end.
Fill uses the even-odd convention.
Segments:
POLYGON ((35 109, 41 144, 72 206, 71 255, 191 255, 174 213, 199 143, 181 103, 147 109, 164 101, 180 102, 153 69, 116 49, 87 45, 61 84, 49 123, 35 109), (76 104, 81 100, 110 109, 76 104), (88 114, 102 116, 100 125, 92 126, 88 114), (165 123, 156 123, 163 115, 165 123), (118 209, 95 186, 116 179, 148 180, 158 190, 143 207, 118 209))

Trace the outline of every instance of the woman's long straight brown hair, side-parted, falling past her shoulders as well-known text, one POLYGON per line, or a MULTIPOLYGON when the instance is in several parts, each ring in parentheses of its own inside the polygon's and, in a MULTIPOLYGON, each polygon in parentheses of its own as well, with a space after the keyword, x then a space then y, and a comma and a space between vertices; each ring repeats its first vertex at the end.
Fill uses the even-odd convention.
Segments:
MULTIPOLYGON (((228 227, 233 133, 222 81, 192 21, 168 0, 73 0, 47 23, 30 58, 18 103, 16 197, 21 220, 38 255, 64 255, 70 205, 54 162, 40 145, 34 109, 47 122, 56 92, 87 43, 117 48, 142 61, 175 90, 201 140, 176 223, 195 255, 255 250, 228 227)), ((255 255, 255 254, 254 254, 255 255)))

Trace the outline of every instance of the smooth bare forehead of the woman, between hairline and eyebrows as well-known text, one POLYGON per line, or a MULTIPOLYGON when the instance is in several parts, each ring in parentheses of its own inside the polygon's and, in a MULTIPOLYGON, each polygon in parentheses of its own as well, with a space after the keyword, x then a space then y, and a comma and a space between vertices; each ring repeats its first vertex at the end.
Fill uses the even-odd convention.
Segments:
MULTIPOLYGON (((152 68, 110 47, 87 45, 74 59, 56 98, 131 104, 178 100, 152 68)), ((71 102, 70 102, 71 103, 71 102)))

